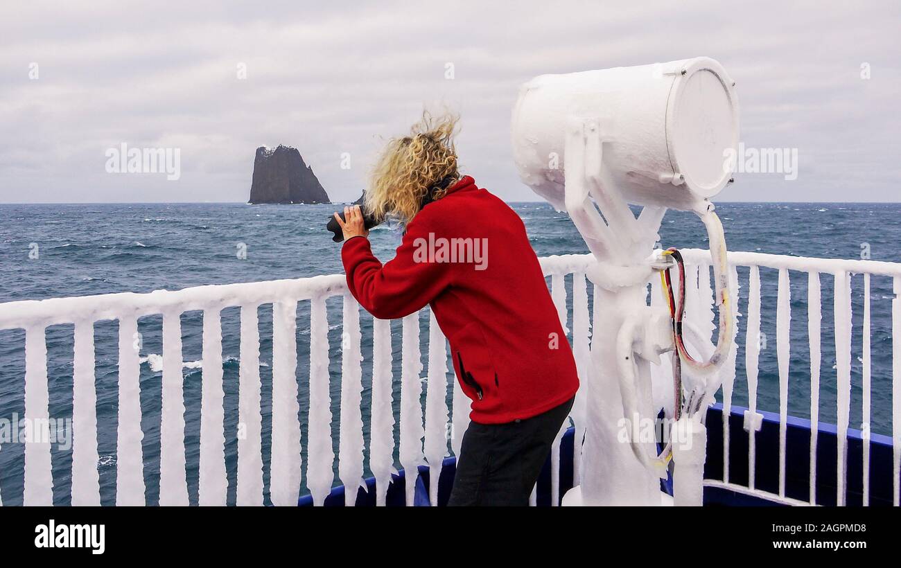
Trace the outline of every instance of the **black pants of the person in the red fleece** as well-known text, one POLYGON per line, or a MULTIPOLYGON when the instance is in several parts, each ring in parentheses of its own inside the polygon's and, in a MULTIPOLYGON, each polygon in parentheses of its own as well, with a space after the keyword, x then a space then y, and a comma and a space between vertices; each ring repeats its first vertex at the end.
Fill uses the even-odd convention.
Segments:
POLYGON ((448 505, 527 506, 573 400, 530 419, 470 422, 448 505))

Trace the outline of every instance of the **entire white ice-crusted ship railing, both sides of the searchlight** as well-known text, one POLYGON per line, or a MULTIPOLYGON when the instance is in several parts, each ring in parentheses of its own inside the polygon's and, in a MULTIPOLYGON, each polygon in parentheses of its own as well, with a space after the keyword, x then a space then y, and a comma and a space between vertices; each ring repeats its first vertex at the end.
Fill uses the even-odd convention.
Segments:
MULTIPOLYGON (((688 319, 712 322, 712 293, 709 278, 698 278, 706 269, 709 275, 709 252, 686 250, 689 266, 687 297, 688 319), (692 277, 694 280, 692 280, 692 277)), ((551 296, 558 307, 564 328, 569 325, 567 308, 567 277, 571 280, 573 316, 571 341, 579 374, 586 376, 590 365, 589 286, 585 276, 592 262, 590 255, 568 255, 542 258, 545 275, 551 276, 551 296)), ((738 314, 737 267, 749 270, 750 296, 745 326, 745 361, 750 410, 749 425, 749 484, 754 485, 754 439, 752 428, 757 415, 758 366, 760 356, 759 332, 760 267, 778 270, 777 352, 779 371, 780 463, 779 496, 785 498, 785 432, 787 424, 787 385, 789 373, 799 372, 788 365, 790 344, 787 322, 790 319, 788 293, 789 271, 808 276, 808 317, 810 320, 811 400, 810 411, 814 425, 819 410, 820 378, 820 289, 819 275, 833 275, 836 291, 834 311, 836 329, 837 372, 839 387, 838 428, 840 451, 838 467, 840 480, 845 472, 847 456, 844 440, 849 428, 851 403, 851 287, 849 275, 858 273, 864 279, 864 350, 863 389, 865 426, 869 425, 869 283, 870 276, 894 279, 895 293, 901 292, 901 265, 873 261, 831 260, 801 257, 779 257, 755 253, 731 253, 733 266, 733 310, 738 314)), ((651 283, 652 285, 656 285, 651 283)), ((651 296, 651 302, 659 294, 651 296)), ((901 374, 901 304, 893 302, 893 361, 894 375, 901 374)), ((40 424, 50 418, 47 376, 47 346, 45 329, 58 324, 74 324, 73 358, 73 438, 72 490, 73 505, 98 505, 100 483, 97 473, 97 419, 95 385, 94 324, 101 320, 118 320, 118 431, 116 446, 115 502, 117 505, 143 505, 145 498, 145 464, 141 429, 140 353, 134 338, 138 319, 149 315, 162 316, 163 365, 162 401, 159 428, 159 503, 187 505, 188 485, 185 448, 185 401, 183 392, 182 345, 180 316, 186 311, 203 311, 203 384, 201 393, 200 467, 197 502, 203 505, 224 505, 228 490, 225 462, 224 403, 223 403, 223 341, 221 312, 228 307, 241 309, 240 371, 238 421, 244 428, 237 443, 236 502, 239 505, 261 505, 264 496, 264 464, 261 451, 262 414, 259 375, 258 309, 272 305, 272 428, 271 461, 269 464, 269 492, 275 505, 294 505, 300 495, 301 482, 322 504, 335 482, 335 459, 332 440, 335 436, 332 420, 332 380, 341 385, 341 419, 337 425, 337 472, 347 488, 346 503, 352 505, 356 488, 364 474, 364 459, 369 455, 369 471, 376 479, 377 502, 384 504, 388 484, 395 467, 395 455, 407 472, 415 472, 420 464, 431 469, 430 478, 436 480, 441 462, 448 455, 448 443, 456 455, 460 440, 469 422, 469 401, 453 381, 451 408, 447 403, 448 367, 445 340, 433 316, 428 326, 428 368, 425 381, 425 404, 421 404, 423 382, 420 352, 419 314, 407 316, 402 323, 402 365, 400 369, 399 439, 394 438, 395 403, 392 395, 394 368, 390 322, 373 320, 372 387, 369 401, 362 400, 361 335, 359 305, 347 292, 342 275, 323 275, 297 280, 280 280, 252 284, 225 284, 187 288, 177 292, 114 293, 100 296, 56 298, 43 301, 8 302, 0 304, 0 329, 25 330, 25 420, 40 424), (325 301, 341 296, 342 341, 341 374, 329 373, 329 338, 325 301), (296 311, 298 302, 310 302, 310 360, 309 412, 307 436, 301 439, 300 407, 297 403, 296 376, 296 311), (361 407, 369 404, 369 447, 364 443, 361 407), (450 422, 450 424, 449 424, 450 422), (451 428, 449 428, 449 426, 451 428), (450 434, 449 434, 450 433, 450 434), (301 461, 301 447, 307 459, 301 461), (305 469, 304 469, 305 468, 305 469), (303 474, 305 473, 305 475, 303 474)), ((594 319, 603 307, 595 305, 594 319)), ((709 329, 714 329, 712 323, 709 329)), ((568 329, 569 332, 569 329, 568 329)), ((736 329, 738 334, 738 329, 736 329)), ((737 343, 737 342, 736 342, 737 343)), ((735 357, 740 347, 733 348, 730 361, 723 371, 723 404, 725 414, 732 408, 735 357)), ((894 443, 894 500, 898 504, 899 448, 901 448, 901 391, 899 381, 892 387, 892 439, 894 443)), ((577 439, 584 433, 584 394, 579 392, 570 415, 577 430, 577 439)), ((561 429, 560 434, 562 435, 561 429)), ((812 453, 816 447, 816 428, 811 428, 812 453)), ((724 428, 724 447, 728 447, 729 432, 724 428)), ((729 483, 729 453, 724 452, 724 479, 729 483)), ((575 480, 578 483, 580 449, 574 452, 575 480)), ((869 471, 869 451, 865 449, 865 468, 869 471)), ((552 448, 552 502, 560 497, 560 444, 552 448)), ((812 461, 811 481, 815 481, 815 461, 812 461)), ((866 473, 865 473, 866 476, 866 473)), ((841 481, 840 481, 841 483, 841 481)), ((864 480, 865 493, 869 478, 864 480)), ((431 501, 438 499, 437 483, 431 484, 431 501)), ((0 496, 2 497, 2 496, 0 496)), ((414 500, 414 483, 406 483, 406 503, 414 500)), ((533 500, 534 501, 534 495, 533 500)), ((2 501, 0 501, 2 502, 2 501)), ((50 443, 32 441, 24 450, 24 492, 26 505, 53 504, 53 478, 50 443)), ((814 502, 814 498, 811 498, 814 502)), ((843 503, 843 486, 839 488, 839 502, 843 503)), ((865 498, 866 502, 866 498, 865 498)))

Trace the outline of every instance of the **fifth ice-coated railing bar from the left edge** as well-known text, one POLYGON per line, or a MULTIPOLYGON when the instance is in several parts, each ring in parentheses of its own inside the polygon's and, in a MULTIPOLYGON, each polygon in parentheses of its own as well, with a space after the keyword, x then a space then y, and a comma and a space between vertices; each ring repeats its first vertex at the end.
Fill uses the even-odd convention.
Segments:
POLYGON ((225 474, 223 329, 219 309, 204 311, 202 380, 198 502, 201 506, 224 506, 228 477, 225 474))

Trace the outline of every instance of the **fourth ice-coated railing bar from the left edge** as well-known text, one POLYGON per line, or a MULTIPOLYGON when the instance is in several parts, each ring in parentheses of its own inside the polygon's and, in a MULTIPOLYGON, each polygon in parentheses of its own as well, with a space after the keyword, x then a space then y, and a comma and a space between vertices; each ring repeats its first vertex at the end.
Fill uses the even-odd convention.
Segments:
POLYGON ((159 504, 187 507, 185 469, 185 376, 181 314, 163 314, 162 416, 159 424, 159 504))

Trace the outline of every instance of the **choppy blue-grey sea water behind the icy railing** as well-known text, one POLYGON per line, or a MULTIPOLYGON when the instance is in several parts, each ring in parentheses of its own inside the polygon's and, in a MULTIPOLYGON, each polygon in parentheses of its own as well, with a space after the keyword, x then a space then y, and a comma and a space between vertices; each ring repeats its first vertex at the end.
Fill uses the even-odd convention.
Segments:
MULTIPOLYGON (((569 218, 543 203, 513 203, 523 218, 539 256, 587 251, 569 218)), ((177 290, 200 284, 257 282, 341 272, 339 245, 323 229, 332 212, 330 205, 205 204, 72 204, 0 205, 0 302, 40 300, 115 292, 177 290), (246 258, 238 253, 246 250, 246 258)), ((901 228, 899 204, 879 203, 721 203, 729 248, 811 257, 859 258, 867 250, 874 260, 901 262, 896 248, 901 228)), ((705 248, 700 221, 690 213, 669 212, 660 230, 664 246, 705 248)), ((383 260, 393 256, 400 235, 387 227, 371 235, 383 260)), ((776 360, 777 273, 761 270, 763 305, 758 404, 762 410, 778 410, 776 360)), ((808 417, 809 352, 807 338, 806 275, 791 273, 791 363, 788 410, 808 417)), ((747 270, 740 269, 740 311, 746 312, 747 270)), ((820 419, 835 420, 835 356, 832 333, 833 279, 823 284, 823 366, 820 419)), ((862 417, 861 324, 862 276, 852 278, 853 356, 851 427, 862 417)), ((872 429, 891 429, 891 282, 874 277, 872 308, 872 429)), ((3 309, 0 306, 0 309, 3 309)), ((340 409, 341 300, 328 302, 332 372, 333 428, 337 431, 340 409)), ((235 499, 237 470, 237 404, 239 363, 238 309, 223 311, 223 361, 225 384, 226 461, 230 480, 229 502, 235 499)), ((188 491, 196 502, 199 467, 201 369, 200 312, 182 316, 183 357, 186 362, 185 403, 188 491)), ((423 341, 427 319, 422 321, 423 341)), ((739 320, 744 343, 744 319, 739 320)), ((271 308, 259 310, 260 375, 263 383, 264 482, 268 502, 269 435, 271 426, 271 308)), ((364 352, 364 401, 369 397, 371 318, 361 317, 364 352)), ((399 376, 400 329, 395 328, 395 372, 399 376)), ((159 416, 161 370, 161 318, 139 322, 141 331, 141 426, 147 500, 159 500, 159 416)), ((97 418, 101 424, 98 464, 102 500, 115 500, 115 425, 118 415, 117 325, 98 322, 96 335, 97 418)), ((0 330, 0 420, 8 423, 24 413, 24 333, 0 330)), ((72 327, 47 331, 50 416, 72 413, 72 327)), ((309 376, 309 307, 301 302, 297 312, 297 377, 302 440, 306 439, 307 379, 309 376)), ((423 363, 426 350, 423 348, 423 363)), ((448 365, 451 369, 451 365, 448 365)), ((743 350, 739 353, 734 403, 747 401, 743 350)), ((452 370, 448 374, 452 377, 452 370)), ((449 390, 450 394, 450 390, 449 390)), ((399 400, 399 383, 395 401, 399 400)), ((369 412, 364 405, 364 437, 369 439, 369 412)), ((3 422, 0 422, 3 424, 3 422)), ((0 427, 2 428, 2 427, 0 427)), ((397 428, 397 426, 396 426, 397 428)), ((397 433, 396 433, 397 436, 397 433)), ((0 440, 0 494, 5 505, 20 504, 23 497, 23 445, 0 440)), ((335 437, 337 454, 337 437, 335 437)), ((69 502, 70 448, 54 446, 54 500, 69 502)), ((304 451, 304 460, 307 456, 304 451)), ((368 472, 367 472, 368 474, 368 472)), ((338 482, 337 475, 335 482, 338 482)), ((305 491, 302 488, 302 492, 305 491)))

